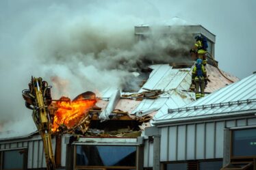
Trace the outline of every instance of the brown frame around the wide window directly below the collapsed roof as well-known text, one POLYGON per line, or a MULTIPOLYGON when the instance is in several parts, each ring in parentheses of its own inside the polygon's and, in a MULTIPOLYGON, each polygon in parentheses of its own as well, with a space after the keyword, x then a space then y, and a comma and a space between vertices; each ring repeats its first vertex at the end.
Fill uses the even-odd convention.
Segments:
MULTIPOLYGON (((79 145, 79 144, 78 144, 79 145)), ((80 145, 85 145, 85 144, 80 144, 80 145)), ((82 165, 77 165, 77 145, 74 147, 74 169, 137 169, 138 165, 138 145, 97 145, 97 146, 130 146, 130 147, 136 147, 136 162, 135 162, 135 167, 125 167, 125 166, 82 166, 82 165)))

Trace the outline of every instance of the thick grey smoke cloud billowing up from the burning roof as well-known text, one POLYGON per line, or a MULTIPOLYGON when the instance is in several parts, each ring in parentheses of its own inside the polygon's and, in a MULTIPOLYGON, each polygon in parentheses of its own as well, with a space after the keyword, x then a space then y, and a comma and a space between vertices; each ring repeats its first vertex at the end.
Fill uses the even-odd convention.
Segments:
POLYGON ((149 63, 187 59, 192 44, 188 40, 193 40, 185 29, 158 26, 145 40, 136 41, 133 25, 105 24, 78 18, 47 23, 47 29, 42 29, 44 23, 27 35, 26 42, 31 44, 28 55, 38 58, 38 71, 44 79, 61 85, 53 89, 58 95, 74 97, 106 87, 123 89, 132 72, 140 72, 149 63), (166 31, 172 34, 166 36, 166 31))

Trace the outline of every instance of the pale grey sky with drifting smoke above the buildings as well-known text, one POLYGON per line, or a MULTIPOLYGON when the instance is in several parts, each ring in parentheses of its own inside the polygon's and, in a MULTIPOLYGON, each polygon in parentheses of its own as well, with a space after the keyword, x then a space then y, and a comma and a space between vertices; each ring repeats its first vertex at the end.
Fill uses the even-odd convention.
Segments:
POLYGON ((30 112, 21 91, 31 75, 51 82, 58 89, 55 98, 74 97, 86 89, 122 86, 142 55, 153 48, 164 56, 166 44, 174 44, 134 45, 135 25, 173 17, 203 25, 216 35, 220 69, 240 79, 249 76, 256 71, 255 7, 255 0, 1 0, 0 130, 30 112))

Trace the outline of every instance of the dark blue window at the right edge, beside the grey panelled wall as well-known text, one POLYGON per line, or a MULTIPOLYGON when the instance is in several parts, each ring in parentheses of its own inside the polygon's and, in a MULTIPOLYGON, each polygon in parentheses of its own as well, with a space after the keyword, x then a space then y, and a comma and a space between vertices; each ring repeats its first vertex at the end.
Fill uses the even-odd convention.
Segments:
POLYGON ((232 144, 234 157, 256 156, 256 128, 233 130, 232 144))

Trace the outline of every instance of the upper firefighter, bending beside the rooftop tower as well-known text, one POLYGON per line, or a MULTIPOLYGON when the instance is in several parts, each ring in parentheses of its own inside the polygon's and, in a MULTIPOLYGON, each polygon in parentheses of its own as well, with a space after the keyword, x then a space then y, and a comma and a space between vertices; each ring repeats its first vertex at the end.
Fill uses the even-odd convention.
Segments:
POLYGON ((208 48, 207 39, 201 35, 196 36, 194 39, 196 39, 196 43, 194 44, 194 48, 190 50, 190 53, 196 53, 196 58, 202 59, 203 66, 206 66, 206 53, 208 48))

